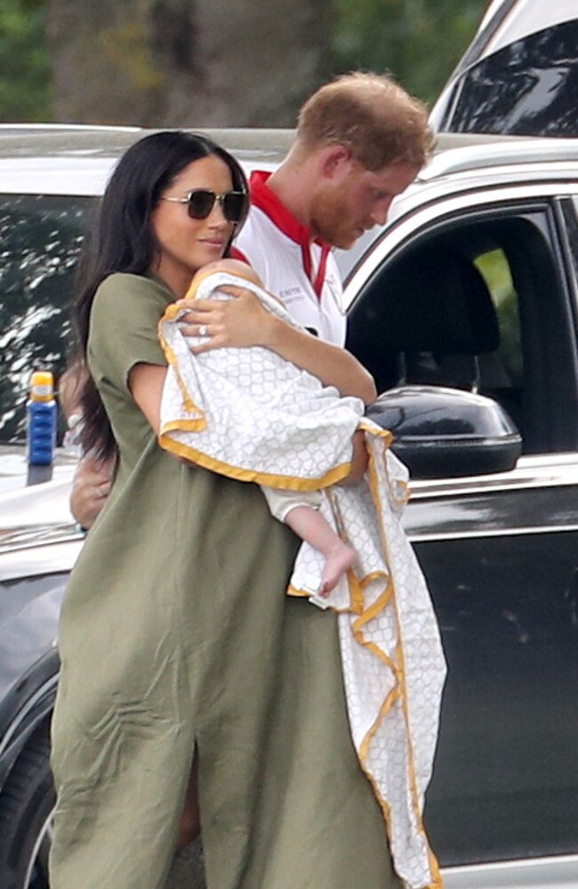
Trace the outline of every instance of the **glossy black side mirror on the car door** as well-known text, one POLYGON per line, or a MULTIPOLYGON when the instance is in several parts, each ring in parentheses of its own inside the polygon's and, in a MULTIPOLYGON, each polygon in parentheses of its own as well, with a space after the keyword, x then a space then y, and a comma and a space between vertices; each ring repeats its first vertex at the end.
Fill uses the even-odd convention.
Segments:
POLYGON ((502 406, 462 389, 389 389, 367 416, 392 433, 392 450, 413 478, 507 472, 522 453, 522 437, 502 406))

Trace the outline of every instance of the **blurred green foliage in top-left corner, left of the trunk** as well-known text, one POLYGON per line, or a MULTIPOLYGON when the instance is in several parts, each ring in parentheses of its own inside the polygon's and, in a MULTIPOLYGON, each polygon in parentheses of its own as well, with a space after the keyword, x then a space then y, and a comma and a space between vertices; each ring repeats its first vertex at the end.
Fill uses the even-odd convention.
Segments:
POLYGON ((45 0, 0 4, 0 120, 52 120, 45 0))

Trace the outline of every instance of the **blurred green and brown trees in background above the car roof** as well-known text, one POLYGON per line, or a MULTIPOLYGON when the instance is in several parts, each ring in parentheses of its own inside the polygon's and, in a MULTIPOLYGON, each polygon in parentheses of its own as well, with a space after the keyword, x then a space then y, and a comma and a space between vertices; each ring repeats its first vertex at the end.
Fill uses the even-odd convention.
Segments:
POLYGON ((485 7, 0 0, 0 120, 291 125, 304 96, 353 68, 389 70, 432 101, 485 7))

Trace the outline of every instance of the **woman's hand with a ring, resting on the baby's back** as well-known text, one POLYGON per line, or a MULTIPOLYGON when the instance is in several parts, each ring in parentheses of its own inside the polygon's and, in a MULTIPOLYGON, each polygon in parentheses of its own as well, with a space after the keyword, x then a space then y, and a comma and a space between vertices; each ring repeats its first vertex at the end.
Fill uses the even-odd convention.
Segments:
POLYGON ((199 346, 191 348, 196 355, 222 346, 264 346, 274 316, 245 287, 220 287, 232 300, 180 300, 177 305, 188 308, 182 316, 181 330, 185 336, 205 336, 199 346))

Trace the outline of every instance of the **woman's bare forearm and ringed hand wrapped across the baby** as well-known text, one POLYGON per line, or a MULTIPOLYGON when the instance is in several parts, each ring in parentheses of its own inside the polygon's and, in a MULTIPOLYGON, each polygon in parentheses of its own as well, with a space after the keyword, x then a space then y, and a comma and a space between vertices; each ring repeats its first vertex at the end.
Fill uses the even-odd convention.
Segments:
MULTIPOLYGON (((316 376, 325 386, 335 386, 343 396, 357 396, 365 404, 377 397, 372 375, 347 349, 319 340, 263 308, 253 292, 242 287, 223 287, 233 300, 192 300, 183 327, 187 336, 199 326, 208 339, 197 353, 222 346, 265 346, 316 376)), ((183 306, 187 303, 181 303, 183 306)))

